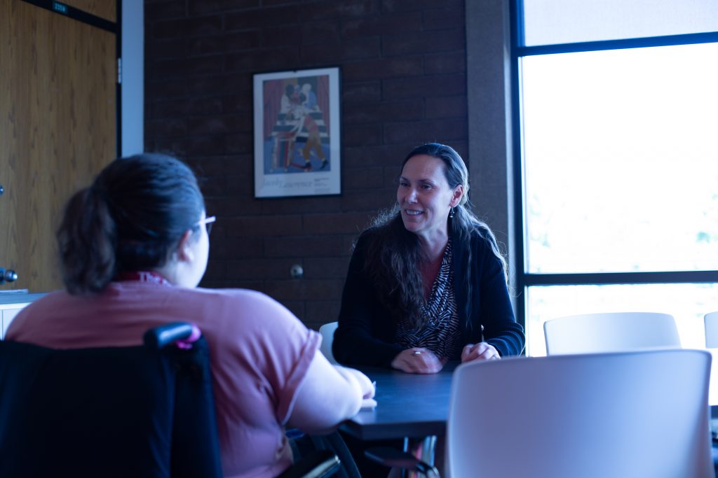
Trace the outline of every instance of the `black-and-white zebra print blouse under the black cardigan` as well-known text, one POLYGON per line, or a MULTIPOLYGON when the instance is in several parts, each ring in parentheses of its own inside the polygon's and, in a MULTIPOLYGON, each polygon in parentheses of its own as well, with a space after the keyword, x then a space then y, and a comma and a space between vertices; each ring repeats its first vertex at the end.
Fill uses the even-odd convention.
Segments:
POLYGON ((461 358, 461 328, 454 300, 454 261, 451 239, 447 244, 432 285, 429 299, 421 307, 427 320, 421 330, 412 329, 407 320, 400 320, 396 328, 396 343, 404 348, 421 347, 431 350, 439 358, 461 358))

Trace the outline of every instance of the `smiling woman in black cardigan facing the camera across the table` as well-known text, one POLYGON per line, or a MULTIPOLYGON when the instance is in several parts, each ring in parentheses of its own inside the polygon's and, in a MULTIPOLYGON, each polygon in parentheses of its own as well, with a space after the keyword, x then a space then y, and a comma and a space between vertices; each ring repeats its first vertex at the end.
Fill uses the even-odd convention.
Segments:
POLYGON ((468 192, 449 146, 406 156, 396 206, 363 231, 349 264, 332 344, 340 363, 434 373, 447 360, 521 353, 505 259, 468 192))

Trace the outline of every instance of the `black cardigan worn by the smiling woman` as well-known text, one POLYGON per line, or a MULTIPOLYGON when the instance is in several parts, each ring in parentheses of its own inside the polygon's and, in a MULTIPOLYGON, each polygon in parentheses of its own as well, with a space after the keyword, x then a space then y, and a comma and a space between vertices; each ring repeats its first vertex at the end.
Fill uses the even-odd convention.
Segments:
MULTIPOLYGON (((340 363, 390 367, 403 347, 394 343, 396 322, 376 293, 364 270, 365 254, 373 234, 362 234, 352 254, 342 293, 339 327, 332 353, 340 363)), ((470 244, 452 244, 454 254, 454 295, 462 326, 463 343, 484 340, 501 356, 518 355, 523 350, 523 328, 516 323, 508 296, 503 265, 493 254, 487 239, 472 231, 470 244), (470 271, 467 255, 471 247, 470 271), (467 274, 470 272, 470 274, 467 274), (472 297, 467 307, 468 280, 472 297), (467 314, 471 320, 467 321, 467 314), (482 337, 483 328, 483 337, 482 337)))

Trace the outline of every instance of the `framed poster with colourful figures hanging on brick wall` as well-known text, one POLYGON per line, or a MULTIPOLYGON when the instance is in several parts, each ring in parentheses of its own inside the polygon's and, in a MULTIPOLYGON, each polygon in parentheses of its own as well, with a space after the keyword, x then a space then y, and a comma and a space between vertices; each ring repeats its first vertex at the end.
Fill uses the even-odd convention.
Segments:
POLYGON ((339 68, 254 75, 254 196, 341 193, 339 68))

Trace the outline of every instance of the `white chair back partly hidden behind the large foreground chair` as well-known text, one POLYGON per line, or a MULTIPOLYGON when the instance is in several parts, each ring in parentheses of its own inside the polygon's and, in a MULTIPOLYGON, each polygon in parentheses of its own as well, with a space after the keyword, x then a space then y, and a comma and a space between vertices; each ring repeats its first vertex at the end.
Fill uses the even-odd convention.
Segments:
POLYGON ((657 312, 559 317, 544 322, 544 335, 548 355, 681 347, 673 316, 657 312))

